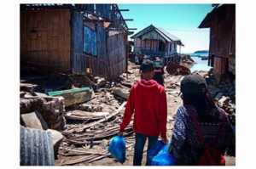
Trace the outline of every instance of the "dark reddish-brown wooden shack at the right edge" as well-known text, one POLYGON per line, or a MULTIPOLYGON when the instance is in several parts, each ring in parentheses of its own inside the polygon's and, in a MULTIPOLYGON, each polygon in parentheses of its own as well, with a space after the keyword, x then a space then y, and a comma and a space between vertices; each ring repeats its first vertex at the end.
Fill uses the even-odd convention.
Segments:
POLYGON ((216 76, 236 75, 236 4, 212 4, 199 28, 210 28, 208 65, 216 76))

